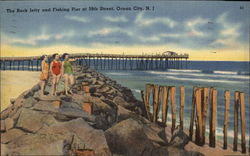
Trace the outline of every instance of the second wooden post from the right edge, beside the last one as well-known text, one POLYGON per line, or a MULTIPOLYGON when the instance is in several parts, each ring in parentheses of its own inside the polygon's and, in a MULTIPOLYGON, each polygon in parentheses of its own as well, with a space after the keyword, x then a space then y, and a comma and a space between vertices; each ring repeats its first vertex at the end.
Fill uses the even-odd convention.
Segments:
POLYGON ((234 141, 233 151, 237 151, 238 146, 238 113, 239 113, 239 92, 234 92, 234 141))

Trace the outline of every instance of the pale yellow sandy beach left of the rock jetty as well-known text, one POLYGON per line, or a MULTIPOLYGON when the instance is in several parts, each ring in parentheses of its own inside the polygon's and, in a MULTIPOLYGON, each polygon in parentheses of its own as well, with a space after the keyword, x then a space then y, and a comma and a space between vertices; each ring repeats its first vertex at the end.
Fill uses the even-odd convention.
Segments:
POLYGON ((8 107, 11 98, 39 82, 40 72, 1 71, 1 111, 8 107))

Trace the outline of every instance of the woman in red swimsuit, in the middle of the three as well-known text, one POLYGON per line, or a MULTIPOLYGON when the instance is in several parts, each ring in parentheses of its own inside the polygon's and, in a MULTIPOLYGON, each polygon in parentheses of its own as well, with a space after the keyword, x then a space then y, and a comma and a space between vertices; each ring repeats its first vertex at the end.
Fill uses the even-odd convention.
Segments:
POLYGON ((55 53, 52 55, 53 61, 50 64, 50 72, 52 74, 52 95, 57 95, 57 86, 61 77, 62 73, 62 65, 61 61, 59 60, 59 54, 55 53))

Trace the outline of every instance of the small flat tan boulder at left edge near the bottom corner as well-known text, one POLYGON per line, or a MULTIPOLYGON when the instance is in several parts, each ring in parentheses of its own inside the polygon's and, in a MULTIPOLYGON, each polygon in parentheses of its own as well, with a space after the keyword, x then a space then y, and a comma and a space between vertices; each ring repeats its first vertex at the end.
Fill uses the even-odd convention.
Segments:
POLYGON ((7 131, 6 133, 1 133, 1 143, 7 144, 24 134, 25 133, 22 130, 19 130, 16 128, 11 129, 7 131))

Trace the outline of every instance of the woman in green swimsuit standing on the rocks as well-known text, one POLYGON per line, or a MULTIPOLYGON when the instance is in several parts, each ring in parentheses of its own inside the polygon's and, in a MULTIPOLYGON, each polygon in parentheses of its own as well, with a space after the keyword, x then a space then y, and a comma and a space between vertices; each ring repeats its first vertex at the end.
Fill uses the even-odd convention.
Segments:
POLYGON ((69 54, 64 53, 62 55, 62 58, 64 59, 62 63, 62 74, 64 76, 64 88, 65 88, 65 94, 68 95, 69 93, 72 94, 71 87, 74 84, 74 72, 73 67, 71 64, 71 59, 69 59, 69 54), (70 84, 70 86, 69 86, 70 84))

